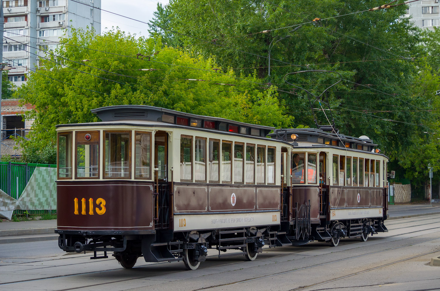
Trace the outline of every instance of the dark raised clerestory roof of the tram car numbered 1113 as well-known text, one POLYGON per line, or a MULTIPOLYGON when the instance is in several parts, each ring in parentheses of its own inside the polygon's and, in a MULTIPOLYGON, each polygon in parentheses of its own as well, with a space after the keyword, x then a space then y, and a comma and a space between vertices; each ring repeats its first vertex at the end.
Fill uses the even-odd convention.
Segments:
POLYGON ((148 105, 115 105, 92 109, 102 121, 148 120, 187 127, 266 137, 275 127, 248 124, 225 118, 196 115, 148 105))

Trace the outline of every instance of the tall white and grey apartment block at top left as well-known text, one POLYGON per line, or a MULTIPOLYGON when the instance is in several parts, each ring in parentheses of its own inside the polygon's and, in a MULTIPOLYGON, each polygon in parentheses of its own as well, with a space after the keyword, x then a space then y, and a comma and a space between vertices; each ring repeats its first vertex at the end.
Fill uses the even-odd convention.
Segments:
POLYGON ((26 82, 43 51, 54 50, 61 36, 74 28, 101 32, 101 0, 3 0, 3 62, 14 69, 9 80, 26 82))

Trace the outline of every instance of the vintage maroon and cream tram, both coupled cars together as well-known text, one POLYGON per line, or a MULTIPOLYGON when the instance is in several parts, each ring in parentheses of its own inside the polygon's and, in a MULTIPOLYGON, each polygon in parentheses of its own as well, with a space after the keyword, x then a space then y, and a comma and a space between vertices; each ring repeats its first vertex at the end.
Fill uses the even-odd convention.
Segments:
POLYGON ((145 105, 92 112, 102 121, 57 127, 64 251, 197 269, 208 249, 253 260, 264 244, 386 230, 387 159, 370 140, 145 105))

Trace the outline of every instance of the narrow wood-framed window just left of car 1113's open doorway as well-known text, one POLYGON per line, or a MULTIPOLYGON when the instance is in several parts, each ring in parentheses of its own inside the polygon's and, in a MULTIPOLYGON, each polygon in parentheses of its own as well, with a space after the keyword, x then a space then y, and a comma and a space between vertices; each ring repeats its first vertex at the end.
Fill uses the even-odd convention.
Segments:
POLYGON ((151 178, 151 133, 135 132, 135 178, 151 178))

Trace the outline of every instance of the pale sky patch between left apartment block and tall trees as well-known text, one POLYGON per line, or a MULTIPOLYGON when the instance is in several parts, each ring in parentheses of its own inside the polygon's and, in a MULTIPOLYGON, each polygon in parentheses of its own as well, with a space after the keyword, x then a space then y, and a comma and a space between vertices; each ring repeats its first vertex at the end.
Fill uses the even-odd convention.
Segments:
MULTIPOLYGON (((101 8, 143 22, 149 22, 153 18, 153 12, 156 11, 158 2, 162 5, 168 4, 168 0, 101 0, 101 8)), ((122 31, 131 34, 136 33, 137 36, 148 36, 148 25, 102 11, 101 32, 117 26, 122 31)))

